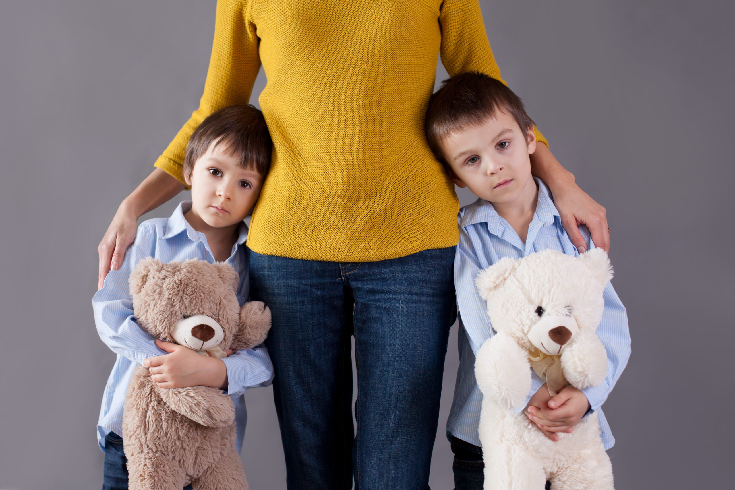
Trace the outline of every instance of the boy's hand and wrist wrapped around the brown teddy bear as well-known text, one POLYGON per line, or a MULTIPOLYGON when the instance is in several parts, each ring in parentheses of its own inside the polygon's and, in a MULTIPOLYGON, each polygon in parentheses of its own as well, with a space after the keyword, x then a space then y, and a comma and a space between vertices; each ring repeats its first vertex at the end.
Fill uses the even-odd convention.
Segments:
POLYGON ((143 359, 151 379, 159 388, 212 386, 227 389, 227 368, 220 359, 202 356, 183 345, 157 340, 156 345, 168 352, 164 356, 143 359))

